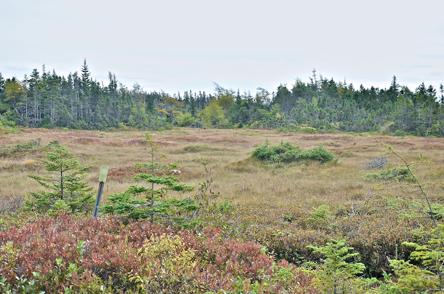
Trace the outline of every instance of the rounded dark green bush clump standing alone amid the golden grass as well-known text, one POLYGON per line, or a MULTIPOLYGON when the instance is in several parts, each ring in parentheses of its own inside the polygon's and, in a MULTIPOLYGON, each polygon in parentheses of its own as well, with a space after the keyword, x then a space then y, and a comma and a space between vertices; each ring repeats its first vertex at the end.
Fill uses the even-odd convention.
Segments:
POLYGON ((271 162, 297 162, 304 159, 318 160, 322 163, 336 161, 333 153, 322 145, 309 150, 304 150, 299 146, 293 146, 289 142, 281 142, 279 145, 262 145, 252 152, 252 157, 262 161, 271 162))

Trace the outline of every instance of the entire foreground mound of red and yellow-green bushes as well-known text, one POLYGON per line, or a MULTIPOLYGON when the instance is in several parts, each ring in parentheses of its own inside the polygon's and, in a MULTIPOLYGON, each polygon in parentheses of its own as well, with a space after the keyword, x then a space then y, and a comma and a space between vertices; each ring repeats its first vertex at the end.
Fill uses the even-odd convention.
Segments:
POLYGON ((293 265, 216 228, 62 213, 0 230, 0 240, 1 293, 317 293, 293 265))

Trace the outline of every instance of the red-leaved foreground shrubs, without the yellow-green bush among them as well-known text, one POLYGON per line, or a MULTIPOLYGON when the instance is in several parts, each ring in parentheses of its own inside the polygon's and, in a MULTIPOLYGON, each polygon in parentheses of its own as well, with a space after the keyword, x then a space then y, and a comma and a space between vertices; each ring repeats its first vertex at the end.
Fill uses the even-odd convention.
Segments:
MULTIPOLYGON (((273 274, 273 258, 262 254, 259 244, 224 239, 220 229, 195 235, 150 222, 124 225, 113 218, 75 219, 62 213, 56 220, 45 218, 0 231, 0 276, 14 284, 17 276, 33 279, 33 272, 37 272, 49 277, 56 270, 63 271, 70 264, 77 264, 81 270, 75 272, 69 282, 62 279, 54 284, 47 279, 47 293, 57 292, 68 284, 88 283, 94 275, 104 281, 111 279, 114 287, 126 291, 135 287, 127 282, 128 274, 141 274, 147 266, 139 252, 144 241, 163 233, 178 234, 185 247, 195 251, 198 263, 188 274, 200 285, 199 291, 228 289, 238 276, 262 283, 263 276, 273 274), (86 244, 82 254, 77 250, 81 242, 86 244), (62 263, 57 263, 57 258, 62 258, 62 263)), ((285 261, 280 265, 292 268, 285 261)), ((310 278, 303 273, 295 273, 294 279, 294 285, 302 285, 299 288, 315 291, 310 278)), ((276 292, 286 286, 275 283, 272 287, 276 292)))

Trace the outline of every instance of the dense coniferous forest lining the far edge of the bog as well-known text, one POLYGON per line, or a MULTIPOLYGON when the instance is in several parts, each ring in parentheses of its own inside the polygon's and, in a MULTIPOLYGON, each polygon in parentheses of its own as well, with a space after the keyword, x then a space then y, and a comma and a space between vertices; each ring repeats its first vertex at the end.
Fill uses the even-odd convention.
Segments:
POLYGON ((241 93, 215 83, 212 94, 147 92, 137 82, 129 89, 109 72, 108 85, 93 78, 86 60, 67 77, 35 69, 19 80, 0 73, 1 123, 30 128, 84 130, 148 129, 173 126, 261 128, 301 132, 373 132, 444 136, 443 85, 416 89, 355 87, 312 72, 275 91, 241 93))

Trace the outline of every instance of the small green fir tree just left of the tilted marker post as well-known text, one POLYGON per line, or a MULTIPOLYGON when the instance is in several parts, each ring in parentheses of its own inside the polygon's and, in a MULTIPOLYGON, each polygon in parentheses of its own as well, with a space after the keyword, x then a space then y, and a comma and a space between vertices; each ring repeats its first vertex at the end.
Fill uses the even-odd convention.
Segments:
POLYGON ((76 156, 64 146, 51 145, 53 151, 46 152, 45 164, 48 176, 28 176, 36 180, 49 191, 31 192, 34 201, 27 201, 27 206, 42 213, 68 210, 73 213, 87 212, 93 206, 93 188, 83 182, 85 171, 91 166, 79 165, 76 156))

